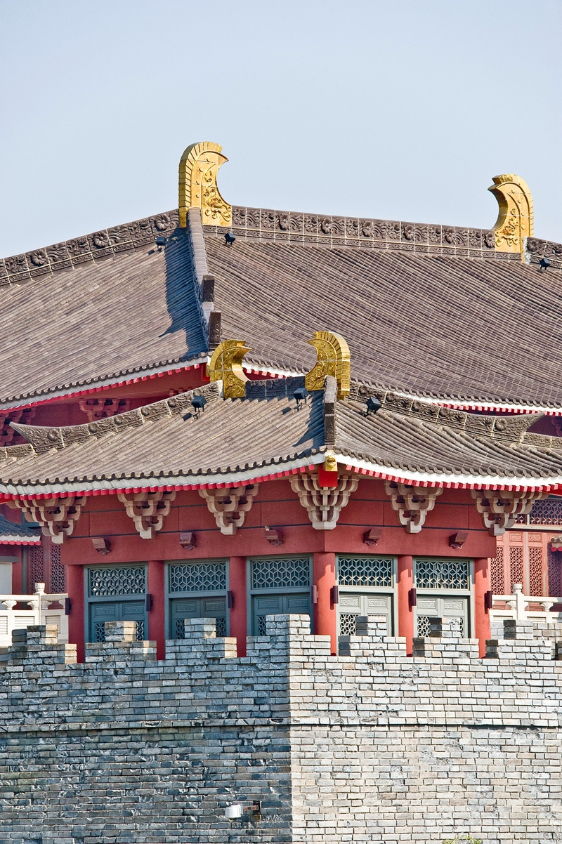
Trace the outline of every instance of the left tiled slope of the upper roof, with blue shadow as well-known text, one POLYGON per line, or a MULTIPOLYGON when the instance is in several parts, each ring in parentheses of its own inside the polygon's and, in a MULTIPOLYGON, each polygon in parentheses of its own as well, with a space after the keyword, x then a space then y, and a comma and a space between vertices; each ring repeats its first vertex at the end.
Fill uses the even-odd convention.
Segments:
MULTIPOLYGON (((159 216, 174 223, 170 215, 159 216)), ((37 251, 45 252, 46 260, 51 256, 38 268, 41 274, 0 279, 0 403, 87 387, 205 353, 185 233, 164 230, 170 239, 159 252, 154 246, 159 230, 153 233, 149 225, 148 235, 133 241, 135 225, 116 227, 123 238, 128 232, 129 241, 116 243, 116 230, 98 232, 77 239, 88 248, 82 255, 71 259, 68 244, 58 244, 58 251, 37 251), (113 246, 104 248, 107 243, 113 246), (52 262, 57 255, 66 260, 52 262)))

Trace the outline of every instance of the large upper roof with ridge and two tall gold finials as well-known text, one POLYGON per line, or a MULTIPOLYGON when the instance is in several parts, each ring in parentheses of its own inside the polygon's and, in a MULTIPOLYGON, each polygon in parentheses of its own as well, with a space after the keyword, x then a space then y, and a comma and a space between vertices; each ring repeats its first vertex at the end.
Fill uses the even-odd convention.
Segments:
POLYGON ((208 360, 222 318, 222 338, 251 346, 246 368, 304 372, 305 339, 326 329, 365 383, 467 408, 562 409, 562 245, 527 236, 518 176, 494 177, 500 217, 478 230, 230 206, 224 160, 218 144, 186 149, 179 213, 0 261, 0 408, 208 360), (204 236, 194 204, 213 224, 204 236))

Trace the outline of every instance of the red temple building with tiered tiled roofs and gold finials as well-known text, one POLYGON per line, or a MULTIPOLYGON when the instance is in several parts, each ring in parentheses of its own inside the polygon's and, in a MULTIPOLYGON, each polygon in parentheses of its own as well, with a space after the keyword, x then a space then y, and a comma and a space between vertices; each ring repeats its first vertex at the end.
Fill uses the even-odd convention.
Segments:
POLYGON ((500 596, 562 594, 562 245, 519 176, 474 230, 231 206, 225 160, 0 262, 0 591, 68 594, 78 658, 279 613, 484 649, 500 596))

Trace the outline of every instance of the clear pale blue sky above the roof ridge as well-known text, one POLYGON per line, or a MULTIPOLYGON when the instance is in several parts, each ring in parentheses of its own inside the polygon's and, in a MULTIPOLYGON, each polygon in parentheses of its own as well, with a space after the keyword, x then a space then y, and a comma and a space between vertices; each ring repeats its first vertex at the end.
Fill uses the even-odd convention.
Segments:
POLYGON ((233 204, 562 241, 562 0, 0 0, 0 254, 177 206, 216 141, 233 204))

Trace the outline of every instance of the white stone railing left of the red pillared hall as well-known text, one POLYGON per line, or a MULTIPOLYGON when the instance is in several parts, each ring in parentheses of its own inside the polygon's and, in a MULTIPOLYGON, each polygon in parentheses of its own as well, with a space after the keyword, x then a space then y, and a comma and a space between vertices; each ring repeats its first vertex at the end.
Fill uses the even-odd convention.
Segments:
POLYGON ((0 595, 0 647, 12 644, 12 630, 30 625, 57 625, 58 641, 68 642, 67 597, 63 592, 46 594, 45 583, 35 583, 34 595, 0 595), (16 603, 25 604, 26 609, 14 609, 16 603), (61 606, 53 606, 56 603, 61 606))

